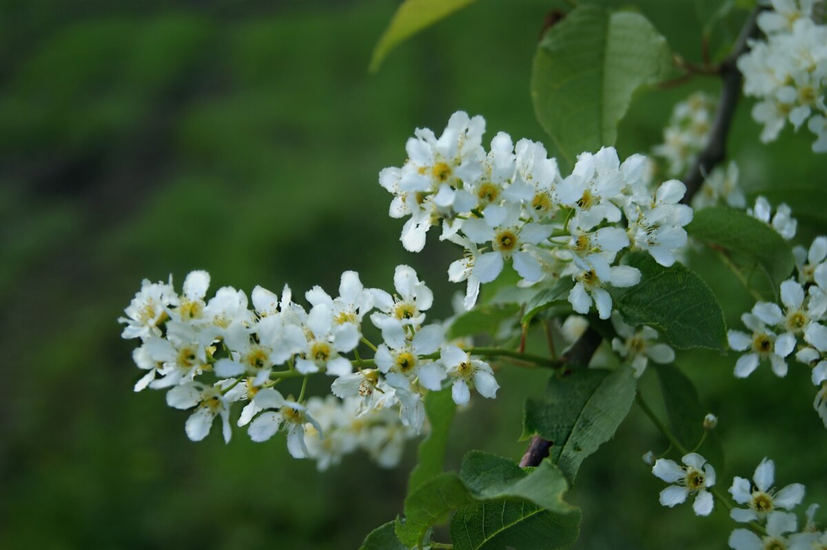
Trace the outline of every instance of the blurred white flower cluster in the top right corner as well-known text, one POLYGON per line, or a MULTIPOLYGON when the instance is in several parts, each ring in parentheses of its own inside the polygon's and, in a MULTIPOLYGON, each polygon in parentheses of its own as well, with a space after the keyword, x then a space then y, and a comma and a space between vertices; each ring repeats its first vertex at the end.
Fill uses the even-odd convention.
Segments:
POLYGON ((766 40, 738 59, 743 92, 758 97, 753 118, 763 125, 761 140, 776 140, 786 121, 816 135, 813 150, 827 151, 827 26, 813 20, 814 0, 772 0, 758 26, 766 40), (809 121, 808 121, 809 119, 809 121))

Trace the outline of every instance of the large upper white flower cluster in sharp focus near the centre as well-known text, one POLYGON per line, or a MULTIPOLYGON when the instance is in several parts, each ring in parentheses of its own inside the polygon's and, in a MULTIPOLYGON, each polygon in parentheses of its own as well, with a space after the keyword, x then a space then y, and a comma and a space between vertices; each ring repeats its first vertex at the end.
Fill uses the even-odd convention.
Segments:
POLYGON ((463 248, 448 278, 466 282, 466 309, 476 303, 480 284, 491 282, 510 263, 520 284, 574 282, 573 309, 596 307, 608 319, 607 286, 630 287, 640 272, 619 264, 621 251, 644 250, 670 266, 686 244, 684 225, 691 207, 681 205, 683 183, 669 180, 648 187, 647 159, 635 154, 620 162, 614 148, 577 158, 563 177, 543 145, 500 132, 490 150, 482 145, 485 121, 457 112, 442 135, 416 130, 408 159, 385 168, 379 181, 394 198, 390 216, 405 221, 401 240, 418 252, 433 225, 441 239, 463 248))

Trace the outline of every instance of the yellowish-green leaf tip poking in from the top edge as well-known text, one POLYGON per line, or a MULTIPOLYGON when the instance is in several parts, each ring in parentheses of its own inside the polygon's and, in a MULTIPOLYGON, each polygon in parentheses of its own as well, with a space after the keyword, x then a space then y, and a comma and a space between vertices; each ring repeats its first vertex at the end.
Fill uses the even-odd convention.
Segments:
POLYGON ((370 72, 379 70, 385 56, 400 42, 476 0, 405 0, 394 13, 370 59, 370 72))

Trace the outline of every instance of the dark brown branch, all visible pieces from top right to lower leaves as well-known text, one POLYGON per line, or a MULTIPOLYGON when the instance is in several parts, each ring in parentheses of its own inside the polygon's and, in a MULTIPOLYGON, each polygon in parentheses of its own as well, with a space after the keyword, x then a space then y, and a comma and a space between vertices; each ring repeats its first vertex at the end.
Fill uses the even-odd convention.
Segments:
MULTIPOLYGON (((686 184, 686 194, 681 202, 685 204, 691 202, 692 197, 695 197, 695 194, 700 190, 700 185, 704 183, 706 174, 710 173, 716 164, 726 158, 726 139, 729 135, 729 126, 732 126, 735 104, 741 92, 741 73, 736 66, 736 62, 748 50, 748 40, 758 35, 756 20, 762 9, 762 7, 757 7, 749 15, 747 21, 743 24, 738 40, 733 45, 732 52, 720 64, 719 73, 724 83, 721 88, 718 110, 715 112, 715 122, 710 131, 709 141, 683 178, 683 183, 686 184)), ((562 362, 586 367, 591 360, 591 356, 595 354, 598 346, 600 346, 601 340, 602 337, 594 329, 586 330, 580 339, 571 346, 571 349, 562 356, 562 362)), ((519 465, 521 467, 539 466, 540 462, 543 462, 543 458, 548 456, 553 444, 552 441, 535 435, 531 439, 531 443, 528 443, 528 448, 519 465)))

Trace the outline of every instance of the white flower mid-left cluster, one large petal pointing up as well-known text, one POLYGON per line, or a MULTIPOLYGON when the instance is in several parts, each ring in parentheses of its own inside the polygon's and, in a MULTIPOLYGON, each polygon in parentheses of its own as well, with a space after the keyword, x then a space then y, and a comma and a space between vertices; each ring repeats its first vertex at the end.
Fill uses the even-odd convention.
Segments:
POLYGON ((325 370, 327 374, 341 377, 353 370, 351 362, 339 353, 347 353, 359 344, 361 334, 356 325, 334 325, 332 311, 327 304, 313 306, 307 318, 307 346, 302 357, 296 359, 296 370, 312 374, 325 370))

